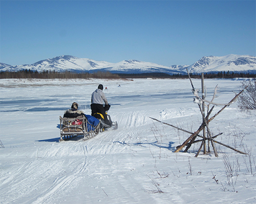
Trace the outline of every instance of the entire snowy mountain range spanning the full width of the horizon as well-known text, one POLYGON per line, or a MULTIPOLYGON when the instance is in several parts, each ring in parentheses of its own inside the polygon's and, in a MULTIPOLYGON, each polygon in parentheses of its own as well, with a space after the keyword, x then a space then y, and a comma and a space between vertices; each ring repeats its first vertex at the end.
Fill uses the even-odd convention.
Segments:
POLYGON ((163 72, 168 74, 186 73, 186 69, 191 73, 201 72, 252 72, 256 73, 256 57, 249 55, 227 55, 223 57, 202 57, 192 65, 172 65, 170 67, 138 60, 123 60, 118 63, 96 61, 88 58, 77 58, 63 55, 52 59, 41 60, 28 65, 8 65, 0 63, 0 71, 18 71, 31 69, 37 71, 56 72, 96 72, 110 71, 112 73, 148 73, 163 72))

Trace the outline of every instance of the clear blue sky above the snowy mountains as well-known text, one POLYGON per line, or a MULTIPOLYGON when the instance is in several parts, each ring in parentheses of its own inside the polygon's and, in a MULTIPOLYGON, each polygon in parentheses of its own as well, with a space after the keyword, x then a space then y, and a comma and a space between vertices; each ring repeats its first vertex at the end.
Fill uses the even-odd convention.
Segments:
POLYGON ((254 0, 2 0, 0 62, 61 55, 190 65, 203 56, 256 56, 254 0))

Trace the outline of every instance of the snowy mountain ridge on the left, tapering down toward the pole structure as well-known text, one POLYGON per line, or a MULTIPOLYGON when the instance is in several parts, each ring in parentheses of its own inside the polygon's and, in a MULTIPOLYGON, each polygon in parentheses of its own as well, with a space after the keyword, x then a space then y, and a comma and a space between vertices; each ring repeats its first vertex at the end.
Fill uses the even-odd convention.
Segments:
POLYGON ((31 69, 37 71, 51 70, 57 72, 73 71, 73 72, 97 72, 110 71, 113 73, 145 73, 145 72, 163 72, 168 74, 183 73, 178 69, 167 66, 141 62, 138 60, 124 60, 118 63, 109 63, 105 61, 96 61, 88 58, 77 58, 69 55, 63 55, 52 59, 42 60, 29 65, 8 66, 3 64, 0 71, 18 71, 23 69, 31 69))

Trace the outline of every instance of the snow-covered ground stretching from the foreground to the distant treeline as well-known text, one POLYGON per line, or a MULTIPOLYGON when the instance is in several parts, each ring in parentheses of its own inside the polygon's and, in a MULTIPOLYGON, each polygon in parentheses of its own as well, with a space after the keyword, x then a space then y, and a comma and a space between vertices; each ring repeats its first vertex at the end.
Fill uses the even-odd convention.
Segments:
MULTIPOLYGON (((201 80, 193 80, 201 88, 201 80)), ((205 80, 206 99, 227 103, 241 80, 205 80)), ((175 153, 202 123, 189 80, 0 80, 0 203, 255 203, 255 113, 237 103, 209 123, 216 144, 175 153), (59 140, 59 116, 76 101, 90 114, 98 84, 118 130, 82 142, 59 140), (120 87, 118 87, 120 85, 120 87)), ((215 107, 215 114, 222 107, 215 107)), ((183 149, 184 150, 184 149, 183 149)))

